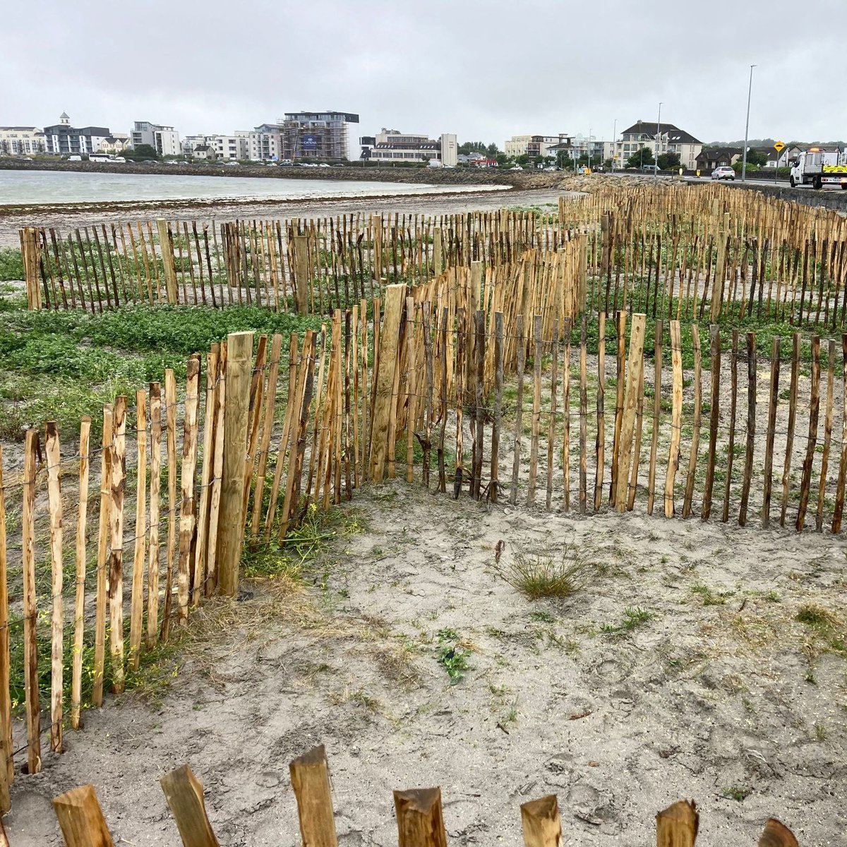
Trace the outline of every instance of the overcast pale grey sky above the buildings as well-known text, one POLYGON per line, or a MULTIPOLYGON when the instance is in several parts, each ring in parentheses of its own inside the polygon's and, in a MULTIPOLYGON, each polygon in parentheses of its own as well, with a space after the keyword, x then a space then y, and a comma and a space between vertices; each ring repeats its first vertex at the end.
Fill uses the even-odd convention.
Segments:
POLYGON ((459 141, 638 119, 701 141, 847 137, 847 0, 9 3, 0 125, 223 133, 286 111, 358 113, 459 141))

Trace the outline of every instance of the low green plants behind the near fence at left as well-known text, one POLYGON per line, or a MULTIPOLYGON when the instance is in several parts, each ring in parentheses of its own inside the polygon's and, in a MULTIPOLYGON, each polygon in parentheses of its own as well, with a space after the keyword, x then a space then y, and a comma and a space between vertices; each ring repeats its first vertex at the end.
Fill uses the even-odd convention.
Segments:
POLYGON ((21 440, 26 427, 47 420, 73 434, 85 415, 97 432, 103 403, 163 380, 165 368, 181 379, 191 353, 230 332, 289 335, 319 326, 320 318, 256 306, 128 306, 97 315, 0 309, 0 438, 21 440))

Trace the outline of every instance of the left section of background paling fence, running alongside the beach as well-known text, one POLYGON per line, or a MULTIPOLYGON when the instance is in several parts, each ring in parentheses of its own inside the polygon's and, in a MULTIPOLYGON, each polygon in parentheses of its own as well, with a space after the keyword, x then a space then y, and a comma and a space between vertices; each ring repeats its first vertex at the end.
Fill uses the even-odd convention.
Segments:
POLYGON ((30 308, 102 312, 128 303, 255 303, 331 315, 386 283, 418 283, 473 261, 555 251, 555 215, 362 213, 311 220, 100 224, 20 230, 30 308))

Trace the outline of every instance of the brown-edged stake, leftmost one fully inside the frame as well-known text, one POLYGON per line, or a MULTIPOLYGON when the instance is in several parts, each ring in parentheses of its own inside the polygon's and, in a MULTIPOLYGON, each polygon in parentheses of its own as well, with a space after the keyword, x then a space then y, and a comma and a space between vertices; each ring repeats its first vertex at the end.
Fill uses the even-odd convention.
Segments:
POLYGON ((41 711, 38 697, 38 640, 36 625, 36 473, 41 455, 37 429, 27 429, 24 445, 24 502, 22 555, 24 570, 24 690, 26 711, 27 772, 42 769, 41 711))

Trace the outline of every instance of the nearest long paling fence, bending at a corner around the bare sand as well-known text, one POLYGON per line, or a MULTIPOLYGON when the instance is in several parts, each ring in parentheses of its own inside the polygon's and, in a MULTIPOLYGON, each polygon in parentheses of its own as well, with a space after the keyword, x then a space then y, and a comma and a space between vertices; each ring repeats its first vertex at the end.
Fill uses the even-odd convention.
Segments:
POLYGON ((202 598, 235 595, 243 545, 284 548, 312 505, 386 476, 579 514, 652 514, 658 496, 668 518, 842 532, 847 335, 761 351, 717 325, 701 338, 644 314, 589 322, 571 243, 546 279, 530 256, 389 285, 373 323, 362 301, 291 335, 287 368, 281 335, 255 352, 252 333, 230 335, 189 359, 184 385, 166 372, 108 404, 100 446, 85 418, 30 429, 21 470, 0 453, 0 518, 14 510, 20 526, 9 546, 0 520, 0 805, 13 711, 38 772, 42 688, 60 751, 68 715, 78 728, 84 702, 120 692, 202 598))

